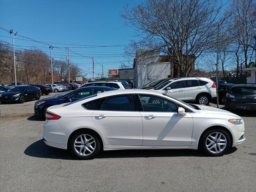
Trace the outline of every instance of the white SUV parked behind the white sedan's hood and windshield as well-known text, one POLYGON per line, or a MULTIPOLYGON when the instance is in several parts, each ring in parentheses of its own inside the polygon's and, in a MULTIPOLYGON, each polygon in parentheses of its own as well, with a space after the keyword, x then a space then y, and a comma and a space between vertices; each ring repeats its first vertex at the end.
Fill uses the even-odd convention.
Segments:
POLYGON ((182 101, 197 101, 201 105, 208 105, 216 97, 216 83, 209 78, 174 78, 154 89, 182 101))

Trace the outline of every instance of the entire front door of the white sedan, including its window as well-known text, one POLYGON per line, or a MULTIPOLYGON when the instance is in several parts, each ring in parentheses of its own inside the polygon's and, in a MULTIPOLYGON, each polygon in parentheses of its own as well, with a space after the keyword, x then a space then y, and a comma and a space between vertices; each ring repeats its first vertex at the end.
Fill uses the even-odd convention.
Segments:
POLYGON ((144 146, 191 145, 193 118, 189 112, 181 116, 177 113, 179 105, 160 96, 141 94, 138 99, 143 109, 140 113, 144 146))

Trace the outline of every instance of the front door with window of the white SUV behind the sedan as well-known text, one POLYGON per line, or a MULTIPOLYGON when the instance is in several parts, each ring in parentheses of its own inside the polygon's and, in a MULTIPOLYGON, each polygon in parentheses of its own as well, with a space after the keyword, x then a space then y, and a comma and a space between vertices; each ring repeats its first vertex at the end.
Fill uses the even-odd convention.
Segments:
POLYGON ((171 82, 168 86, 166 86, 163 90, 162 93, 172 96, 176 99, 179 100, 184 100, 184 81, 174 81, 171 82), (168 87, 170 90, 168 90, 168 87))

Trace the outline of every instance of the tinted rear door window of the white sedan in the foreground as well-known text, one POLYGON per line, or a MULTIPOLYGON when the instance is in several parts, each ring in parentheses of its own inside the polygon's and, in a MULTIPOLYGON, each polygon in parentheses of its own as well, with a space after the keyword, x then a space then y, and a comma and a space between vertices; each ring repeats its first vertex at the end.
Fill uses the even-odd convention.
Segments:
POLYGON ((132 95, 107 97, 101 105, 101 110, 134 111, 132 95))

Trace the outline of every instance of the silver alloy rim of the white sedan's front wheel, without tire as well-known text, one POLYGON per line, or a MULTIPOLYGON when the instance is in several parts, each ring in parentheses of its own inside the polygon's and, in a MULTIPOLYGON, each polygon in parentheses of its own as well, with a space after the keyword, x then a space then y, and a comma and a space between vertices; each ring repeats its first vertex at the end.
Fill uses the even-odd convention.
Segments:
POLYGON ((207 136, 205 145, 210 153, 219 154, 226 148, 227 138, 220 132, 213 132, 207 136))

